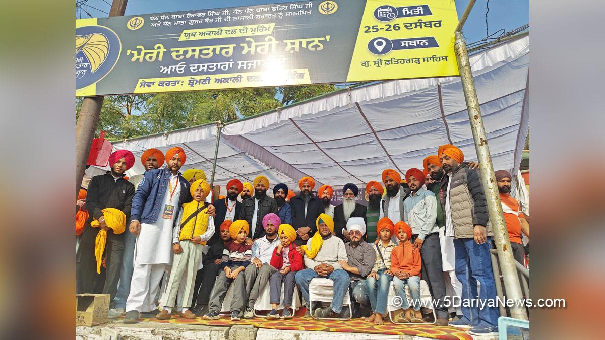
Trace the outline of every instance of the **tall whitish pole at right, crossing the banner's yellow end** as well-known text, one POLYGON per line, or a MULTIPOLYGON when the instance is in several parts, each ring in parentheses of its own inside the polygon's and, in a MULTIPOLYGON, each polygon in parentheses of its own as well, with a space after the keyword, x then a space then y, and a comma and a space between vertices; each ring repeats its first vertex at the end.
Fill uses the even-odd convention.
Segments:
MULTIPOLYGON (((489 155, 488 140, 485 134, 485 126, 481 117, 479 107, 479 99, 477 98, 477 90, 473 80, 471 64, 468 60, 468 51, 466 50, 466 40, 462 36, 462 27, 468 18, 475 1, 468 2, 466 9, 460 19, 456 31, 456 41, 454 42, 454 51, 460 71, 460 79, 462 80, 462 89, 464 91, 464 99, 466 108, 468 109, 468 117, 473 131, 473 139, 477 150, 477 158, 479 159, 479 171, 485 198, 488 204, 489 220, 491 221, 492 229, 494 230, 494 241, 500 262, 500 269, 504 279, 505 296, 513 301, 522 301, 523 293, 521 284, 515 267, 515 260, 512 257, 511 241, 508 238, 508 230, 504 221, 502 212, 502 204, 500 203, 500 194, 498 192, 497 182, 494 175, 494 166, 492 165, 491 156, 489 155)), ((500 280, 495 277, 494 280, 500 280)), ((510 307, 511 316, 515 319, 528 320, 525 307, 519 306, 517 303, 510 307)))

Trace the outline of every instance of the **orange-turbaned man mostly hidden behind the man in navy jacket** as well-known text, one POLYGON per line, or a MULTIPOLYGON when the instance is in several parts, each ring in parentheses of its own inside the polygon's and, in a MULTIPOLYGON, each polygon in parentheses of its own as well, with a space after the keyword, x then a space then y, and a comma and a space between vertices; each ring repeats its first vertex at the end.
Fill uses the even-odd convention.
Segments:
MULTIPOLYGON (((151 169, 158 169, 164 164, 164 154, 159 149, 146 149, 141 155, 141 163, 145 172, 151 169)), ((143 180, 145 174, 138 174, 128 178, 128 181, 134 185, 134 190, 139 188, 139 183, 143 180)), ((133 195, 134 196, 134 195, 133 195)), ((116 293, 116 308, 111 309, 107 315, 108 319, 124 316, 126 309, 126 299, 130 293, 130 280, 132 279, 132 261, 134 261, 134 244, 137 242, 136 235, 126 230, 124 232, 124 253, 122 256, 122 269, 120 270, 120 286, 116 293)))

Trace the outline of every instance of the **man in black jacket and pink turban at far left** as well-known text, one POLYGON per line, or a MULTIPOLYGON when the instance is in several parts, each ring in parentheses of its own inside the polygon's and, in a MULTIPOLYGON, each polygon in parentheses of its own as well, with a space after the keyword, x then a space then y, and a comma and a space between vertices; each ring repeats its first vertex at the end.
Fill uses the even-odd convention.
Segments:
POLYGON ((113 229, 105 223, 102 209, 120 209, 126 215, 126 223, 130 219, 130 208, 134 196, 134 185, 125 180, 124 172, 134 165, 134 155, 128 150, 119 150, 110 155, 111 171, 105 175, 93 177, 88 185, 86 208, 90 217, 86 221, 82 240, 80 240, 80 267, 78 293, 110 294, 110 304, 113 307, 117 283, 120 278, 122 252, 124 250, 124 234, 114 234, 113 229), (100 227, 93 228, 90 223, 98 220, 100 227), (107 230, 105 254, 107 256, 106 270, 97 273, 94 246, 99 231, 107 230))

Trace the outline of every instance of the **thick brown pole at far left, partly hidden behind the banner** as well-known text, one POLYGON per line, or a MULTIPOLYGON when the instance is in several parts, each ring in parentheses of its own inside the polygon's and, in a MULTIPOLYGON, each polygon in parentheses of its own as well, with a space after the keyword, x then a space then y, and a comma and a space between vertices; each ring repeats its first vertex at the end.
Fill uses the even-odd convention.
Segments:
MULTIPOLYGON (((126 11, 128 0, 114 0, 111 4, 110 16, 122 16, 126 11)), ((76 197, 82 185, 84 170, 90 146, 93 143, 94 131, 99 123, 103 97, 85 97, 76 123, 76 197)))

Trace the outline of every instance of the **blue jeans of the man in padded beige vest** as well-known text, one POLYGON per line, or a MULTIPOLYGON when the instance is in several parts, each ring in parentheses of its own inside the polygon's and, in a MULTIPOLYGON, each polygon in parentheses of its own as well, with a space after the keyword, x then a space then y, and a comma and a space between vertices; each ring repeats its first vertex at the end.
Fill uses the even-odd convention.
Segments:
MULTIPOLYGON (((462 283, 462 302, 477 298, 477 281, 481 283, 479 297, 483 301, 496 298, 494 272, 492 272, 489 246, 491 237, 483 244, 477 244, 474 238, 454 239, 456 250, 456 277, 462 283)), ((488 307, 487 302, 482 309, 477 303, 468 306, 462 304, 462 321, 471 326, 480 323, 497 327, 500 312, 497 307, 488 307)))

